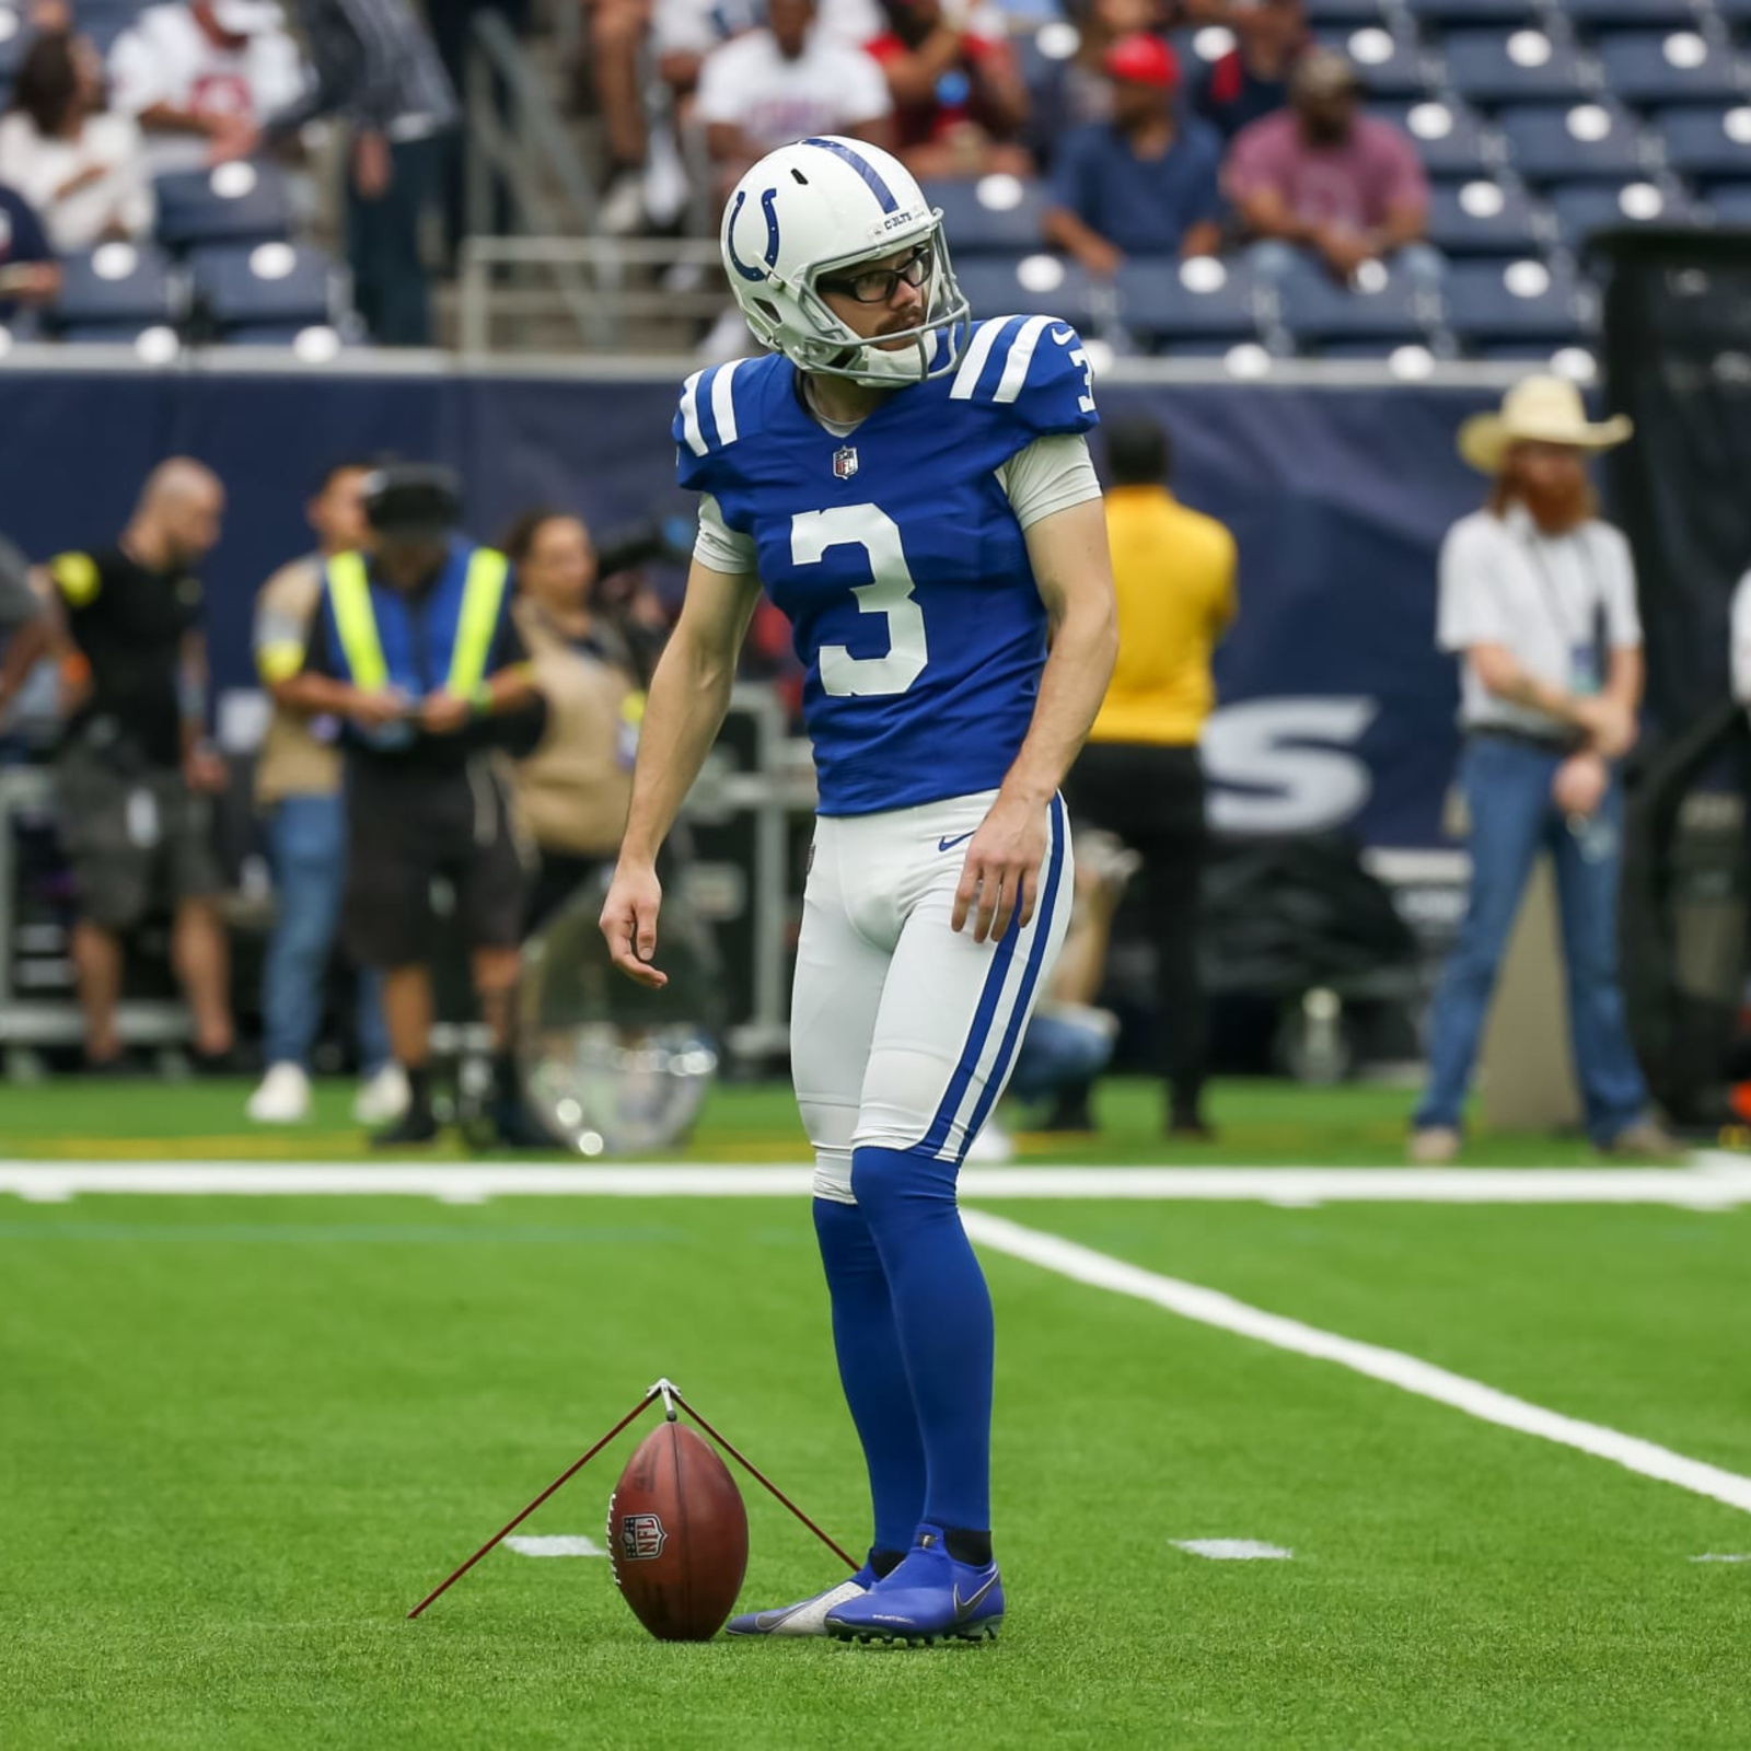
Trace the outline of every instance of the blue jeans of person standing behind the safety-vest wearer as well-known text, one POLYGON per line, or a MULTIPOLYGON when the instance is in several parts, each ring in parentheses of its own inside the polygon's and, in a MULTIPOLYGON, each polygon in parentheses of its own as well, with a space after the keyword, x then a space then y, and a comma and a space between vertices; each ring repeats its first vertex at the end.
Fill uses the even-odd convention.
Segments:
MULTIPOLYGON (((263 1047, 270 1065, 308 1068, 322 1026, 322 982, 347 879, 347 804, 287 797, 268 821, 280 919, 261 979, 263 1047)), ((359 974, 359 1059, 369 1075, 389 1063, 383 982, 359 974)))

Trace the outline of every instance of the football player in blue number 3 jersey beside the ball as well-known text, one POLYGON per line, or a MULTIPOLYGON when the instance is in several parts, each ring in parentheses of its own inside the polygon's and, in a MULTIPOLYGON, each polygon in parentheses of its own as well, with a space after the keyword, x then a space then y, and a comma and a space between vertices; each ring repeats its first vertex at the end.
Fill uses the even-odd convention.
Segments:
POLYGON ((1058 784, 1117 648, 1089 364, 1049 317, 972 322, 942 214, 856 140, 763 158, 721 245, 772 352, 681 392, 699 539, 602 932, 664 984, 657 849, 763 585, 807 669, 819 809, 791 1070, 876 1516, 854 1578, 730 1630, 979 1639, 1003 1616, 991 1299, 954 1182, 1070 918, 1058 784))

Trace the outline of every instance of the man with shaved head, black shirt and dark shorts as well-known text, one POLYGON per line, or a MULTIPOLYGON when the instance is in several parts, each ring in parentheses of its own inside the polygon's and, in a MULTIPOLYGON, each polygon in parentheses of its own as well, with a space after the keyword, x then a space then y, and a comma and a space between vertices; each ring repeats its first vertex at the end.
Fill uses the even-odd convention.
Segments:
POLYGON ((116 546, 60 553, 39 587, 54 608, 67 725, 56 755, 61 840, 79 904, 74 965, 91 1070, 124 1068, 116 1031, 123 946, 173 916, 172 961, 194 1051, 233 1045, 221 877, 208 795, 226 781, 207 742, 207 646, 196 567, 219 539, 224 487, 187 457, 152 469, 116 546))

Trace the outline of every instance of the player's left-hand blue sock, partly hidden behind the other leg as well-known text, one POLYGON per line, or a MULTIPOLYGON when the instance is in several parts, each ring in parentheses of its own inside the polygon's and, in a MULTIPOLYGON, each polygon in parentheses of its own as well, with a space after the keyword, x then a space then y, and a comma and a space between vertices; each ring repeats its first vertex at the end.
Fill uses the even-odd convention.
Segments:
POLYGON ((925 1446, 888 1303, 888 1278, 854 1205, 816 1198, 814 1233, 833 1301, 839 1378, 870 1473, 874 1548, 904 1551, 925 1518, 925 1446))

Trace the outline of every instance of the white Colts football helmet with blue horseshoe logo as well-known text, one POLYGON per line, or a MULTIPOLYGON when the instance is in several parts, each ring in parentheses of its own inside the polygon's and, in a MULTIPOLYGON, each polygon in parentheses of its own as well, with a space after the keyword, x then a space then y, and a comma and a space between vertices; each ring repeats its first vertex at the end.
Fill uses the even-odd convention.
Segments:
POLYGON ((735 184, 720 242, 730 291, 755 336, 804 371, 893 389, 953 371, 967 345, 967 299, 949 266, 942 210, 890 152, 837 135, 767 152, 735 184), (925 319, 881 347, 839 320, 816 291, 907 245, 930 247, 925 319), (911 341, 897 347, 893 341, 911 341))

